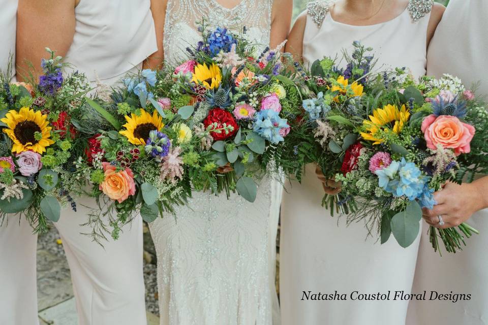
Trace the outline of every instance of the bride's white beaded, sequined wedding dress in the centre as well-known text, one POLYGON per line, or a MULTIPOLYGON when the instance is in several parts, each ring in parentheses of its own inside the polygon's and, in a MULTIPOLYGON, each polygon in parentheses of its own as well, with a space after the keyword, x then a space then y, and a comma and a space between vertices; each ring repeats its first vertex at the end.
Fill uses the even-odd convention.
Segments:
MULTIPOLYGON (((166 62, 185 59, 201 36, 196 21, 269 44, 272 0, 242 0, 232 9, 216 0, 169 0, 164 28, 166 62)), ((158 257, 162 325, 270 325, 279 316, 274 286, 281 185, 264 179, 249 203, 237 194, 196 192, 150 224, 158 257), (274 307, 273 307, 274 306, 274 307)))

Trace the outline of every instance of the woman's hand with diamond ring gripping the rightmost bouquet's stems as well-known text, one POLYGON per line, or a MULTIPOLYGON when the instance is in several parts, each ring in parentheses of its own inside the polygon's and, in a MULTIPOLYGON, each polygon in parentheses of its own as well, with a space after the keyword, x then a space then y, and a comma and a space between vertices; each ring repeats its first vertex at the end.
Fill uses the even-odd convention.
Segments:
MULTIPOLYGON (((479 181, 483 181, 480 179, 479 181)), ((488 193, 483 190, 482 184, 478 181, 473 183, 455 184, 447 183, 443 189, 434 193, 437 205, 434 209, 423 208, 423 218, 430 225, 436 228, 451 228, 460 225, 468 220, 473 213, 486 207, 488 193), (439 224, 439 215, 444 221, 439 224)))

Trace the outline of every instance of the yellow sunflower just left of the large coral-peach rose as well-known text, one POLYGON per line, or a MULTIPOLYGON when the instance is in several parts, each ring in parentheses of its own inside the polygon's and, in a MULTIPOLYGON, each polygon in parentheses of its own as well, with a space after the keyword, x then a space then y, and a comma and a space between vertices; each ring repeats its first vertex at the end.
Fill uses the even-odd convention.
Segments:
POLYGON ((398 109, 395 105, 386 105, 383 108, 378 108, 370 115, 369 120, 362 122, 367 132, 362 132, 361 137, 364 140, 374 141, 373 145, 380 144, 383 139, 378 135, 379 131, 391 132, 400 134, 402 129, 410 117, 410 112, 407 111, 405 105, 398 109))

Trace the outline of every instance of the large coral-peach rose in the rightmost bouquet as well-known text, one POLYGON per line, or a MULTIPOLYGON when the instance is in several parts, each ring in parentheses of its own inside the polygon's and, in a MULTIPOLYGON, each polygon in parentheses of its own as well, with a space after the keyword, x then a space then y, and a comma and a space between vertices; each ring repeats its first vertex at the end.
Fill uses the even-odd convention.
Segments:
POLYGON ((434 114, 424 118, 421 129, 428 148, 436 149, 440 144, 444 148, 454 149, 456 156, 471 151, 469 144, 476 131, 472 125, 461 122, 455 116, 434 114))

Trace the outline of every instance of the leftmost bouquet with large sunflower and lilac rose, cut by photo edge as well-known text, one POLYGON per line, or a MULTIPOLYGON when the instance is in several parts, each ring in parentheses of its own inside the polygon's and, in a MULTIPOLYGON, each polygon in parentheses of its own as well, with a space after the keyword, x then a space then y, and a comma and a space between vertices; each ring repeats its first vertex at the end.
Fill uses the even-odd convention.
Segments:
POLYGON ((63 76, 62 58, 42 61, 39 83, 9 83, 0 89, 0 215, 21 213, 35 231, 48 230, 62 205, 76 211, 70 183, 76 182, 67 166, 76 133, 69 114, 88 89, 84 76, 63 76))

